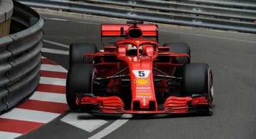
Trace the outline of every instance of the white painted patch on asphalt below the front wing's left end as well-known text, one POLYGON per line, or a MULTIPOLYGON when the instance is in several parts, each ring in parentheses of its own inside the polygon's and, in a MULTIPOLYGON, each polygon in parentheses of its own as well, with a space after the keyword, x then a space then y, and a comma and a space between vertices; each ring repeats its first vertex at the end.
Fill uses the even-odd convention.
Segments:
POLYGON ((75 113, 75 112, 70 112, 60 120, 62 120, 67 124, 78 127, 82 130, 85 130, 87 132, 93 132, 97 128, 107 123, 106 120, 96 119, 95 117, 89 114, 81 114, 81 113, 75 113), (86 117, 92 117, 92 119, 90 118, 86 119, 86 117))

